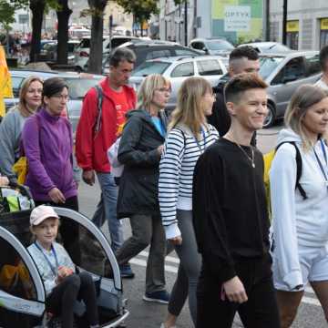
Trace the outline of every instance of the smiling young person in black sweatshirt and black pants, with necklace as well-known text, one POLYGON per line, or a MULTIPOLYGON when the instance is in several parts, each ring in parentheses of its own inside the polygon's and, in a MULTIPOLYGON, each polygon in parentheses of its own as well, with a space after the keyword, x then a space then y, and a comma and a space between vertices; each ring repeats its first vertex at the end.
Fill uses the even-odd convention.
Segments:
POLYGON ((231 78, 224 89, 231 127, 194 171, 193 223, 202 256, 197 328, 230 328, 236 312, 246 328, 280 327, 263 159, 251 146, 267 114, 266 87, 257 74, 231 78))

